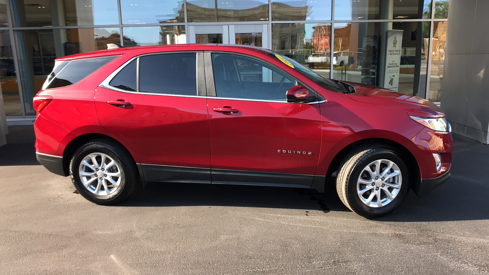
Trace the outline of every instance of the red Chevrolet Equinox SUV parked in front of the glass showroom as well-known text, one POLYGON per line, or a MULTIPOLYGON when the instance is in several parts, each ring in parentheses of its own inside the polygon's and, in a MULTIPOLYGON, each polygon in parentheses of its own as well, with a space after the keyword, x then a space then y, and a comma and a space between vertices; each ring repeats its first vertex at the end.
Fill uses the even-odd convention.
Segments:
POLYGON ((102 205, 144 182, 335 183, 348 208, 375 217, 450 177, 450 125, 433 103, 252 46, 59 58, 34 109, 39 162, 102 205))

